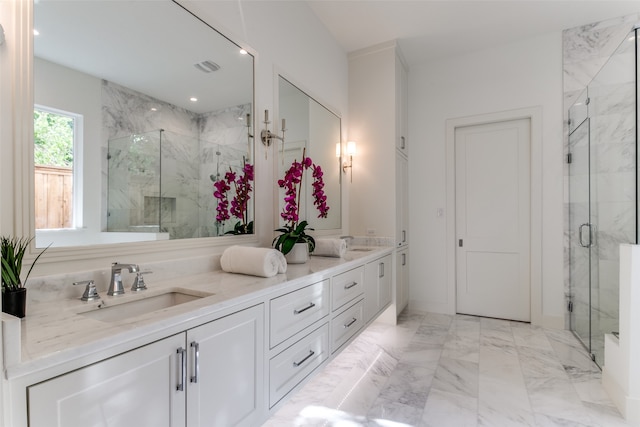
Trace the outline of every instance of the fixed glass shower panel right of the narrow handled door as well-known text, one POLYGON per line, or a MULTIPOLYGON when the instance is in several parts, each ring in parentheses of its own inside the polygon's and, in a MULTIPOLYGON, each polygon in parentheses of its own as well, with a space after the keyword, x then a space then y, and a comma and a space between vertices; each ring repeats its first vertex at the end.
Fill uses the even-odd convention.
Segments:
POLYGON ((619 328, 620 244, 636 242, 636 43, 627 37, 589 83, 591 353, 619 328))

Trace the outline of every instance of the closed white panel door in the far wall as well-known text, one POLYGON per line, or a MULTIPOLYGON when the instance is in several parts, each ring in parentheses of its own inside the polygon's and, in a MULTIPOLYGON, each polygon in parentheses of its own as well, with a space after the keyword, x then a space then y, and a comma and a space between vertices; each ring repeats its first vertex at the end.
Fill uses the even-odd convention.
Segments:
POLYGON ((530 321, 530 121, 456 128, 456 311, 530 321))

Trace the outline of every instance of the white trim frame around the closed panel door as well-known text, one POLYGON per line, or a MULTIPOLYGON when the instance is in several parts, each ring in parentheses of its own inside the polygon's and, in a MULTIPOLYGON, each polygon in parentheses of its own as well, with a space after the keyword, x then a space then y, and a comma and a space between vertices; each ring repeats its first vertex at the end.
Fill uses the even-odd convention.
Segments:
POLYGON ((480 114, 446 121, 446 222, 447 222, 447 310, 456 313, 456 163, 455 130, 518 119, 529 119, 531 125, 531 193, 530 193, 530 285, 531 324, 555 327, 542 313, 542 107, 530 107, 480 114))

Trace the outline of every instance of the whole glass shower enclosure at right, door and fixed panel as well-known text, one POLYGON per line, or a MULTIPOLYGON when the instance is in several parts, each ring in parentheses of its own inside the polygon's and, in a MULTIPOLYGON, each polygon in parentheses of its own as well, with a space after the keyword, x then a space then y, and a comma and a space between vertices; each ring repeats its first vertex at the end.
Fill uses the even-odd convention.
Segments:
POLYGON ((636 31, 569 109, 569 311, 574 334, 604 364, 619 325, 619 246, 637 242, 636 31))

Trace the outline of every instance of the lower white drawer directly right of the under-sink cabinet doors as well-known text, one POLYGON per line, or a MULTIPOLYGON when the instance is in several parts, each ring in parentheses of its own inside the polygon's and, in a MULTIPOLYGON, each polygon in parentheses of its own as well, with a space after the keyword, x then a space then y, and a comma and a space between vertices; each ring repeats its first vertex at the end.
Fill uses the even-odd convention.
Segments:
POLYGON ((269 407, 304 380, 329 357, 329 325, 325 323, 269 361, 269 407))

